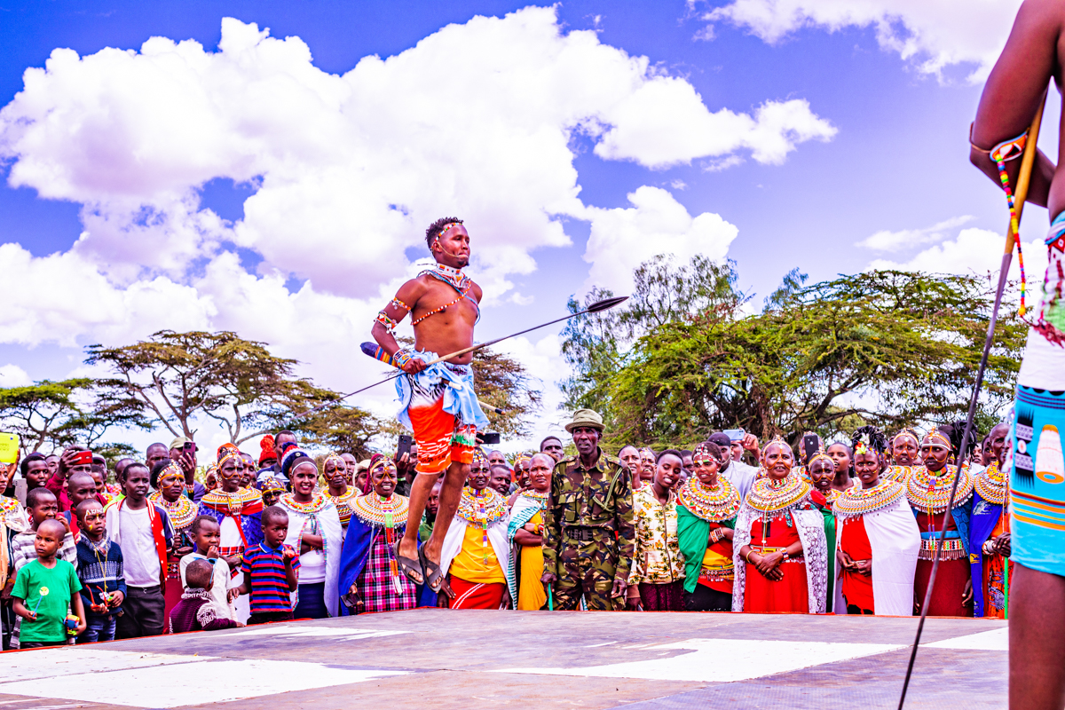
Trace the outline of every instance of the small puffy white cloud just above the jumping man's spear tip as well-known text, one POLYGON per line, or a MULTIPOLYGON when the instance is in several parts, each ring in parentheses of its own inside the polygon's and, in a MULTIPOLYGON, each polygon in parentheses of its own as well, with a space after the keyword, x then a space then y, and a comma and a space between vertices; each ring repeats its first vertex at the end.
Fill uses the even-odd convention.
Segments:
POLYGON ((627 293, 633 268, 661 253, 686 262, 697 253, 722 260, 739 230, 719 215, 688 210, 660 187, 644 185, 628 195, 630 208, 589 208, 592 224, 585 261, 591 262, 586 286, 627 293))

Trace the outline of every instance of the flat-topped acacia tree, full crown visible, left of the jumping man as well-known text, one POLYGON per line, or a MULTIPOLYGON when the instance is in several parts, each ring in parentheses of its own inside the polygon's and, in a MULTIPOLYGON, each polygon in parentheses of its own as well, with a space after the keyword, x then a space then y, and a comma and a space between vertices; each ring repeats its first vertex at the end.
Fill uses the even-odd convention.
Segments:
POLYGON ((113 374, 98 383, 103 401, 140 412, 176 436, 192 437, 202 415, 224 424, 240 444, 283 426, 293 412, 339 397, 295 377, 297 361, 230 331, 163 330, 133 345, 93 345, 87 352, 86 363, 113 374))

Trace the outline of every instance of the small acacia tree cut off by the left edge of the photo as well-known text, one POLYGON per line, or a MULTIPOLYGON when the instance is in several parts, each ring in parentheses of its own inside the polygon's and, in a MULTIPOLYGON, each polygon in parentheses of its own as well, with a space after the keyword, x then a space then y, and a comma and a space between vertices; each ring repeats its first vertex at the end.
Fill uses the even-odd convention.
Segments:
POLYGON ((103 443, 111 427, 148 428, 135 410, 118 402, 101 402, 96 381, 71 378, 0 389, 0 423, 17 433, 22 447, 38 451, 81 444, 93 449, 127 450, 126 444, 103 443))

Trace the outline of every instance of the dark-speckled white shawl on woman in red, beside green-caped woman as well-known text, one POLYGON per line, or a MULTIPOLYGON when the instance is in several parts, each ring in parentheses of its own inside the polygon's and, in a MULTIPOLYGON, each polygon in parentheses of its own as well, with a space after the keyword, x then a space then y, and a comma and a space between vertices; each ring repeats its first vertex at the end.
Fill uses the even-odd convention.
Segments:
MULTIPOLYGON (((803 557, 806 560, 806 598, 809 613, 824 613, 824 597, 829 592, 829 543, 824 536, 824 517, 816 508, 796 510, 797 506, 808 505, 800 501, 791 508, 791 519, 794 521, 802 541, 803 557)), ((751 525, 764 513, 743 503, 736 517, 736 530, 733 536, 733 563, 736 567, 736 581, 733 582, 733 611, 743 611, 743 591, 747 585, 747 563, 740 557, 743 545, 751 544, 751 525)), ((783 515, 784 511, 765 513, 783 515)))

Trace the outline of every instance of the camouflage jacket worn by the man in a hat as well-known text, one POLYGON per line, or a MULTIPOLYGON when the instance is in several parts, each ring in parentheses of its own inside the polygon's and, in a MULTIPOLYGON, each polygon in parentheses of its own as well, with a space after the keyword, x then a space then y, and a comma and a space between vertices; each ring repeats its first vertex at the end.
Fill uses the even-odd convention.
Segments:
POLYGON ((581 544, 567 538, 566 528, 600 528, 609 544, 617 545, 615 578, 627 579, 636 540, 633 478, 628 468, 603 449, 590 468, 581 466, 576 456, 559 461, 551 475, 551 497, 543 511, 543 527, 544 571, 558 568, 563 546, 581 544))

